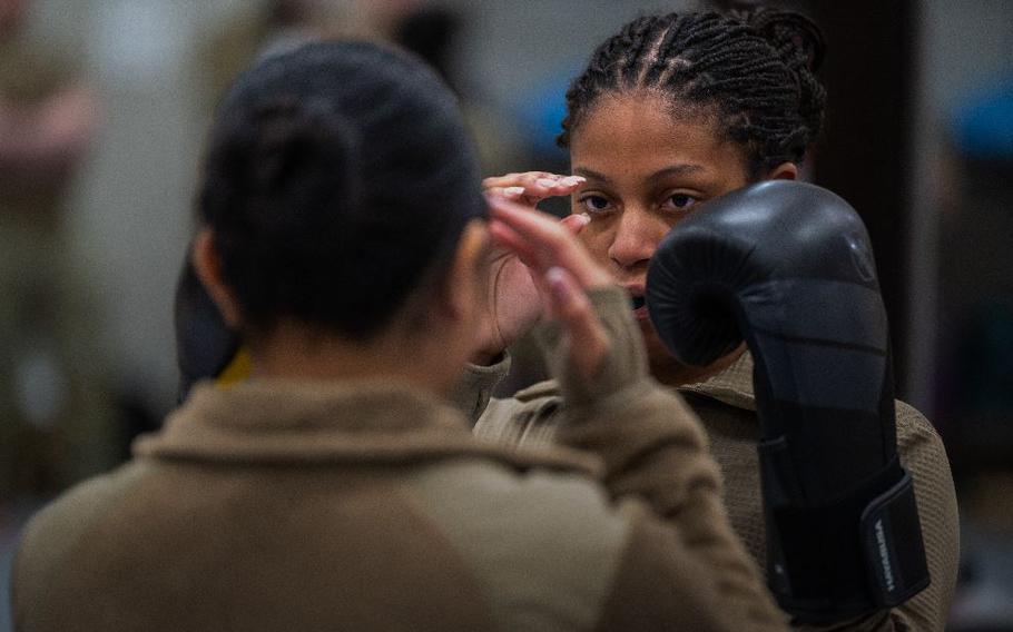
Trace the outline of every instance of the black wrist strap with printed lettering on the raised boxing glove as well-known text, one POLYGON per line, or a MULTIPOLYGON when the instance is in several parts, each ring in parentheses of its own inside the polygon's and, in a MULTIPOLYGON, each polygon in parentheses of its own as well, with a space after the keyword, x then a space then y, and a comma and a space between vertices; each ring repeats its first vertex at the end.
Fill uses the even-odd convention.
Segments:
POLYGON ((790 500, 784 437, 759 451, 768 582, 781 608, 806 623, 843 621, 928 585, 914 486, 896 457, 833 502, 800 506, 790 500))

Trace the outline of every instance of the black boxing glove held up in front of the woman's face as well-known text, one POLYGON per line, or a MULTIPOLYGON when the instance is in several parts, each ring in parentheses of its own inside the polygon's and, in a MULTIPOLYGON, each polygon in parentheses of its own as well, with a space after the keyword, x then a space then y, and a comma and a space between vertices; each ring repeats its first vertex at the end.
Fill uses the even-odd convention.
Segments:
POLYGON ((819 187, 767 181, 708 201, 647 278, 661 340, 706 366, 755 361, 767 570, 781 608, 826 623, 928 585, 897 457, 886 312, 857 214, 819 187))

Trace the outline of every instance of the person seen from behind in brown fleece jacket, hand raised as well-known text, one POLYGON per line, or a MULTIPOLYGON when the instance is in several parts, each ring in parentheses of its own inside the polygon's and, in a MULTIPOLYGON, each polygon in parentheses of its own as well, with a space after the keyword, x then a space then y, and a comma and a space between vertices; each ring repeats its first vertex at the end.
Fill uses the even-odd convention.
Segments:
POLYGON ((16 630, 783 630, 624 292, 553 218, 490 206, 416 59, 318 42, 243 75, 191 260, 253 378, 198 385, 37 514, 16 630), (547 353, 581 403, 565 447, 490 445, 451 402, 490 238, 549 289, 547 353))

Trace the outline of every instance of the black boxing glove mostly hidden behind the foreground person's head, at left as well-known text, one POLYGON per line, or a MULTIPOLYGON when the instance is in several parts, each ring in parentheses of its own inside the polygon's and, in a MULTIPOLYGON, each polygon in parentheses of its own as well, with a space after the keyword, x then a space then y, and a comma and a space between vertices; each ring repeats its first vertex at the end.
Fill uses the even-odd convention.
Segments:
POLYGON ((239 335, 229 329, 218 306, 197 278, 187 256, 176 286, 174 306, 179 401, 200 379, 214 379, 239 349, 239 335))

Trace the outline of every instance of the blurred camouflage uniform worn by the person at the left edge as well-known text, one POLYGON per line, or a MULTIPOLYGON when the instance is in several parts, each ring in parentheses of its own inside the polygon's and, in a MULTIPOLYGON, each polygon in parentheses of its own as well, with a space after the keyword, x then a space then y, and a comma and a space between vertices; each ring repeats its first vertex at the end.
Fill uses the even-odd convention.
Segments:
MULTIPOLYGON (((78 78, 39 48, 21 37, 0 42, 6 107, 42 108, 78 78)), ((67 257, 70 167, 36 177, 0 164, 0 500, 55 493, 111 466, 120 448, 94 315, 67 257)))

